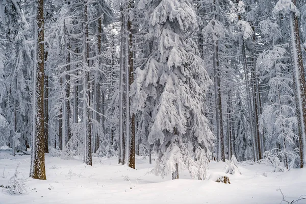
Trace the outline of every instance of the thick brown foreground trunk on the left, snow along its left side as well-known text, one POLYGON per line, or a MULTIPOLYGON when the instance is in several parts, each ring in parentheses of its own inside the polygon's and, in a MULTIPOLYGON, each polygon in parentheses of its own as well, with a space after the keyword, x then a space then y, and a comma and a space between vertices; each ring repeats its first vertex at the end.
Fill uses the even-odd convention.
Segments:
POLYGON ((32 165, 30 176, 33 179, 46 180, 44 161, 44 113, 43 113, 43 91, 44 91, 44 15, 43 0, 38 0, 37 5, 37 47, 34 77, 34 101, 33 101, 33 143, 32 143, 32 165))

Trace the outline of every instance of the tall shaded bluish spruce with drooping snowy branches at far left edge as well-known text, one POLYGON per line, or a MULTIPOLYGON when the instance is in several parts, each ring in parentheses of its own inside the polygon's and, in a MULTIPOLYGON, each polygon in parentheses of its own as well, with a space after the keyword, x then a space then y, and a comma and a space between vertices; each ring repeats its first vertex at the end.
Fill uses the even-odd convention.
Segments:
POLYGON ((27 103, 30 100, 29 92, 27 92, 30 84, 27 84, 25 80, 28 78, 28 70, 32 65, 29 63, 30 46, 26 43, 29 26, 21 11, 20 1, 6 1, 0 4, 2 8, 0 36, 3 35, 0 44, 4 46, 3 57, 0 57, 3 62, 2 86, 6 86, 6 88, 2 87, 4 92, 0 93, 0 103, 4 116, 10 123, 7 126, 10 131, 7 145, 12 147, 12 155, 15 156, 16 147, 24 150, 25 142, 29 141, 29 134, 25 132, 27 127, 23 125, 23 122, 31 117, 27 114, 31 108, 27 103))

